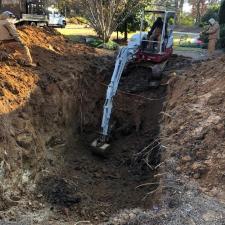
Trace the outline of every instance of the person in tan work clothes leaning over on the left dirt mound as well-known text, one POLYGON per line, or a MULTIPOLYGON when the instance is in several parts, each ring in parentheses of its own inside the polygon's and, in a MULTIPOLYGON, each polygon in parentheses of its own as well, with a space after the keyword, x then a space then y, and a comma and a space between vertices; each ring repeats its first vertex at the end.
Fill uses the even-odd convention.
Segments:
POLYGON ((22 55, 24 66, 35 67, 30 50, 21 40, 14 23, 10 21, 11 14, 8 11, 0 14, 0 50, 7 54, 14 54, 18 51, 22 55))

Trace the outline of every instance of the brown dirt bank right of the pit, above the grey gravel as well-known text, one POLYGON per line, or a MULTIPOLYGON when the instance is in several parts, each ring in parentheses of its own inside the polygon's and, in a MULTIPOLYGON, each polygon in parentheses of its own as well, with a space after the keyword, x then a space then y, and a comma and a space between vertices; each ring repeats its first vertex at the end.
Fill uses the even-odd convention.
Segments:
POLYGON ((174 149, 178 174, 204 193, 224 198, 225 57, 195 65, 171 80, 163 136, 174 149))

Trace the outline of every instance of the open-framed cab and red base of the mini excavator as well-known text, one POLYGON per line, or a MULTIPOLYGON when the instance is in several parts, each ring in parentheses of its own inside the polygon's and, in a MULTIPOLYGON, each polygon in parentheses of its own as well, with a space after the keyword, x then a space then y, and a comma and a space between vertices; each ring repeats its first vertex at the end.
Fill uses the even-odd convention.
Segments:
POLYGON ((145 10, 143 12, 136 62, 161 63, 172 55, 175 18, 175 11, 145 10), (151 20, 153 27, 149 32, 144 27, 145 21, 148 23, 148 20, 151 20), (158 20, 160 22, 157 27, 155 24, 158 20))

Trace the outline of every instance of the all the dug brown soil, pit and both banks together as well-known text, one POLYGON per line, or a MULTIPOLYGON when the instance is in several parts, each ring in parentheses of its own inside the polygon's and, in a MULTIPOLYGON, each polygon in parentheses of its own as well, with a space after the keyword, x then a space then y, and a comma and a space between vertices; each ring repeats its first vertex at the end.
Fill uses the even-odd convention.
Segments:
POLYGON ((52 29, 24 27, 20 35, 38 66, 18 64, 19 53, 0 62, 2 221, 223 224, 224 57, 193 64, 174 56, 161 85, 138 93, 123 85, 145 81, 145 71, 126 75, 103 158, 89 143, 114 53, 52 29))

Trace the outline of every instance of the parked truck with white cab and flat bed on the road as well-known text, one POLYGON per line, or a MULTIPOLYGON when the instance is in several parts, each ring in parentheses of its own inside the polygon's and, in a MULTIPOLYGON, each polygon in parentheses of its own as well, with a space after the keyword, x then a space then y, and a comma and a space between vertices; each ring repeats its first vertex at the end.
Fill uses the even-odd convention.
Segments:
POLYGON ((65 27, 66 19, 48 7, 46 0, 2 0, 1 11, 10 11, 16 17, 15 24, 32 26, 65 27))

